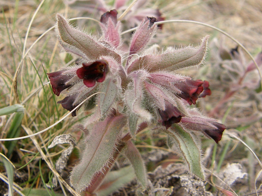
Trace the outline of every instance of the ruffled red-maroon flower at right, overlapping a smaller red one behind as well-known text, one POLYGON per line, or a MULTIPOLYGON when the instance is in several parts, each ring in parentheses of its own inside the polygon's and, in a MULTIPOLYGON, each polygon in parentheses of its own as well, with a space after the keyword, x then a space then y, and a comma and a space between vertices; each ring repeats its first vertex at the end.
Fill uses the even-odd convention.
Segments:
POLYGON ((175 86, 181 90, 181 94, 178 96, 185 99, 191 106, 192 104, 196 104, 198 96, 204 90, 202 84, 204 84, 204 82, 201 80, 195 81, 186 79, 185 81, 175 84, 175 86))

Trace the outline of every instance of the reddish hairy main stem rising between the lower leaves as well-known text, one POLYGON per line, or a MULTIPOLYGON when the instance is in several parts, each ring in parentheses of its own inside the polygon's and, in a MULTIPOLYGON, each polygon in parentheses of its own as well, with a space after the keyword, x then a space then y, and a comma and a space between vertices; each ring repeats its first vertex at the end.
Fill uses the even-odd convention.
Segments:
MULTIPOLYGON (((147 126, 148 124, 146 122, 141 123, 137 133, 139 133, 141 130, 144 130, 147 126)), ((99 186, 101 185, 101 182, 105 178, 105 175, 109 172, 111 166, 114 165, 118 155, 125 147, 125 143, 129 141, 130 139, 132 139, 132 136, 130 135, 130 133, 127 133, 124 137, 121 138, 121 141, 119 142, 119 144, 116 145, 116 151, 113 157, 109 159, 108 164, 104 166, 102 171, 100 171, 99 173, 95 175, 95 177, 92 179, 90 183, 91 185, 86 188, 85 196, 94 195, 95 191, 98 190, 99 186)))

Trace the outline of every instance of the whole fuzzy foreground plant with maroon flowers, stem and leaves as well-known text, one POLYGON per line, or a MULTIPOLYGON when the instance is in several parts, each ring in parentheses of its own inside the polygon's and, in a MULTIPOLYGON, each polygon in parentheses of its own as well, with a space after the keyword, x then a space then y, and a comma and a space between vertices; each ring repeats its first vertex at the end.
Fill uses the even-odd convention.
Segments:
MULTIPOLYGON (((102 15, 102 38, 70 26, 57 14, 56 31, 63 48, 79 57, 80 63, 48 73, 52 90, 63 108, 72 111, 93 95, 82 108, 92 114, 84 126, 86 135, 82 159, 71 172, 71 185, 95 193, 114 160, 123 153, 131 162, 138 181, 146 186, 146 169, 137 148, 130 141, 146 127, 169 135, 192 174, 204 180, 201 150, 192 131, 217 143, 224 129, 217 120, 187 107, 199 97, 210 95, 208 81, 177 74, 182 68, 203 63, 208 36, 197 48, 145 50, 156 33, 156 19, 144 18, 132 35, 127 53, 121 48, 121 23, 116 10, 102 15), (145 52, 146 51, 146 52, 145 52), (91 128, 91 129, 90 129, 91 128)), ((77 111, 72 112, 76 116, 77 111)))

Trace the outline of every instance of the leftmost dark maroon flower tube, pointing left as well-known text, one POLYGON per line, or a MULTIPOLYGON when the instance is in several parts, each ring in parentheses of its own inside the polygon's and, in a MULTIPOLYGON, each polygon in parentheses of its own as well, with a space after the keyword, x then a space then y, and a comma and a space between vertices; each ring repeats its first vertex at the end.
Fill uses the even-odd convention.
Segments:
POLYGON ((65 70, 47 73, 53 92, 57 96, 59 96, 63 90, 71 86, 70 84, 65 84, 70 78, 68 75, 63 75, 64 71, 65 70))

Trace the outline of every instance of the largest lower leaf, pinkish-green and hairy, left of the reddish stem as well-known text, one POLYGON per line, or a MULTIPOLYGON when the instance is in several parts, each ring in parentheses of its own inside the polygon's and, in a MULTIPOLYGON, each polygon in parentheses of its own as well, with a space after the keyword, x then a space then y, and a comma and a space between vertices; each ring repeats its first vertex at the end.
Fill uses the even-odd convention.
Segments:
POLYGON ((94 125, 92 132, 87 136, 82 159, 71 172, 70 183, 76 191, 89 186, 96 173, 107 164, 124 125, 124 117, 113 114, 94 125))

